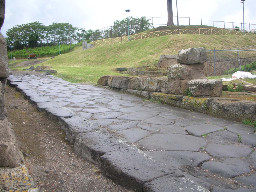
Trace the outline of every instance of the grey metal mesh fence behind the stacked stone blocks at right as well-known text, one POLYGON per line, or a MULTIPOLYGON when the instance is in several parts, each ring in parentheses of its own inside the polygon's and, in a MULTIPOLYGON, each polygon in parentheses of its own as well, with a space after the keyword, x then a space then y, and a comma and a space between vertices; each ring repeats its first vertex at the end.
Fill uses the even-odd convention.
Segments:
POLYGON ((221 76, 245 71, 256 74, 256 45, 226 50, 207 50, 205 76, 221 76))

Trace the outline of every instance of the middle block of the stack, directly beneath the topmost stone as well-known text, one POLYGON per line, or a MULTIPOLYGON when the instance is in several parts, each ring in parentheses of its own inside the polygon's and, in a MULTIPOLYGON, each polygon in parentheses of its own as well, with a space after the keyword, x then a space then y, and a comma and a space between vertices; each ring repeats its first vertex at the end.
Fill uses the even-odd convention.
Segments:
POLYGON ((204 75, 204 67, 204 63, 175 64, 170 66, 168 79, 207 79, 204 75))

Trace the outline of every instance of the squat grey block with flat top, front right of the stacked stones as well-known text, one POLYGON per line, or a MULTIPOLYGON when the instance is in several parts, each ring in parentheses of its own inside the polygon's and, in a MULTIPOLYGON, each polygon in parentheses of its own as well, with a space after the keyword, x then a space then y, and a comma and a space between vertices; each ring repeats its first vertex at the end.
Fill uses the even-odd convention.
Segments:
POLYGON ((193 96, 220 97, 222 94, 222 81, 195 79, 188 81, 188 89, 193 96))

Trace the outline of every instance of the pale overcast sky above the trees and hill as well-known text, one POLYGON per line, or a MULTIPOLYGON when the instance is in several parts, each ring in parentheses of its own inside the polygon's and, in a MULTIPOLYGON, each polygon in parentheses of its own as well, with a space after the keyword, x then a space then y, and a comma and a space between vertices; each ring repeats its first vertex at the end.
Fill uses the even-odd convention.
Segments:
MULTIPOLYGON (((79 28, 101 29, 113 25, 115 20, 127 17, 125 9, 131 9, 133 17, 166 17, 167 1, 140 0, 6 0, 5 21, 1 33, 15 25, 39 21, 44 25, 70 23, 79 28)), ((177 0, 179 17, 214 19, 225 22, 243 22, 243 5, 240 0, 177 0)), ((256 24, 256 0, 244 2, 245 23, 256 24)), ((173 0, 173 15, 177 16, 176 1, 173 0)), ((176 18, 175 18, 176 19, 176 18)), ((151 20, 152 22, 152 20, 151 20)), ((154 26, 167 23, 164 18, 154 18, 154 26)), ((174 22, 177 23, 177 22, 174 22)), ((180 25, 188 25, 188 19, 179 20, 180 25)), ((200 20, 191 20, 191 25, 200 25, 200 20)), ((203 21, 203 25, 212 25, 212 21, 203 21)), ((234 24, 241 27, 241 24, 234 24)), ((223 22, 215 22, 223 27, 223 22)), ((232 28, 232 23, 225 24, 232 28)), ((248 25, 245 25, 248 28, 248 25)), ((256 25, 250 28, 256 29, 256 25)))

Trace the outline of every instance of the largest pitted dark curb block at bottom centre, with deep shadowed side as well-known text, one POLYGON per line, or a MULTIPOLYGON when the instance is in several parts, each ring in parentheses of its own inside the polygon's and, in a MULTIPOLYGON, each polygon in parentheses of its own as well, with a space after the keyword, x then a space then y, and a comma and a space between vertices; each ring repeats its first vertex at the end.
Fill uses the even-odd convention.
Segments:
POLYGON ((136 147, 108 152, 100 157, 101 173, 115 183, 142 192, 146 182, 175 172, 136 147))

